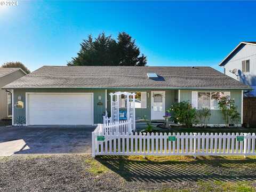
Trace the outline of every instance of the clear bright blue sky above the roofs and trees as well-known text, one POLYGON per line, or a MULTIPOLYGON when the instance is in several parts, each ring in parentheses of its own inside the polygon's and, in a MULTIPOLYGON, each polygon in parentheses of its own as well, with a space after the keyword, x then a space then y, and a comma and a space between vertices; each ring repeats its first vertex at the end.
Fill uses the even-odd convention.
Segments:
POLYGON ((211 66, 256 41, 256 2, 18 1, 0 6, 0 64, 66 65, 89 34, 136 39, 149 66, 211 66))

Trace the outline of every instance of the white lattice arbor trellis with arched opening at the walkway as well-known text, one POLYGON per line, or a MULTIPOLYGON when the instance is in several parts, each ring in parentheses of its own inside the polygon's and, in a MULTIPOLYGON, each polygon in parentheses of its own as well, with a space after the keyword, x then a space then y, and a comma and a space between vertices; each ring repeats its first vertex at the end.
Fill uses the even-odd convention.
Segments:
POLYGON ((109 93, 111 97, 111 117, 105 117, 103 119, 104 123, 115 123, 119 122, 119 102, 124 95, 126 97, 126 118, 127 122, 131 122, 132 130, 135 130, 135 94, 136 93, 129 93, 129 92, 115 92, 109 93))

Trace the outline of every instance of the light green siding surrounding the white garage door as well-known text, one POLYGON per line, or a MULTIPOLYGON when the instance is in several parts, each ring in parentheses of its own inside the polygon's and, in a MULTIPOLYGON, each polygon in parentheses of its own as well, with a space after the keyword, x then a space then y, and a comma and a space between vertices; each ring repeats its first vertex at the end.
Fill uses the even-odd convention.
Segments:
POLYGON ((14 106, 14 124, 15 119, 21 116, 26 118, 26 92, 35 93, 93 93, 93 121, 94 124, 102 123, 102 113, 105 111, 105 90, 97 89, 15 89, 14 90, 14 103, 17 102, 18 96, 21 96, 21 101, 24 102, 24 108, 18 109, 14 106), (99 100, 101 96, 101 100, 99 100), (98 105, 101 101, 103 105, 98 105))

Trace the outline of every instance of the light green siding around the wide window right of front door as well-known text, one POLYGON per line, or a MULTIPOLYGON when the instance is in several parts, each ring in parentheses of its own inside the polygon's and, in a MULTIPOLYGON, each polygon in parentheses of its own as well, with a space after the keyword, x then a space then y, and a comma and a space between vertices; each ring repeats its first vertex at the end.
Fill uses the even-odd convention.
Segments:
MULTIPOLYGON (((213 91, 217 90, 180 90, 180 101, 189 101, 191 103, 192 91, 213 91)), ((218 90, 218 91, 230 91, 230 98, 235 99, 235 105, 237 106, 239 114, 241 114, 242 108, 242 92, 241 90, 218 90)), ((221 110, 211 110, 211 117, 209 124, 225 124, 221 110)))

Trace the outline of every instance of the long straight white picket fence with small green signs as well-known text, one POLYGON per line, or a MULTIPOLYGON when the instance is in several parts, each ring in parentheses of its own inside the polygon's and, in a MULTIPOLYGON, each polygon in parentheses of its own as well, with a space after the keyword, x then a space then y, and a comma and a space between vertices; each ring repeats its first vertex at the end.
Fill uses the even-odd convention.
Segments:
POLYGON ((255 133, 92 133, 95 155, 256 155, 255 133))

